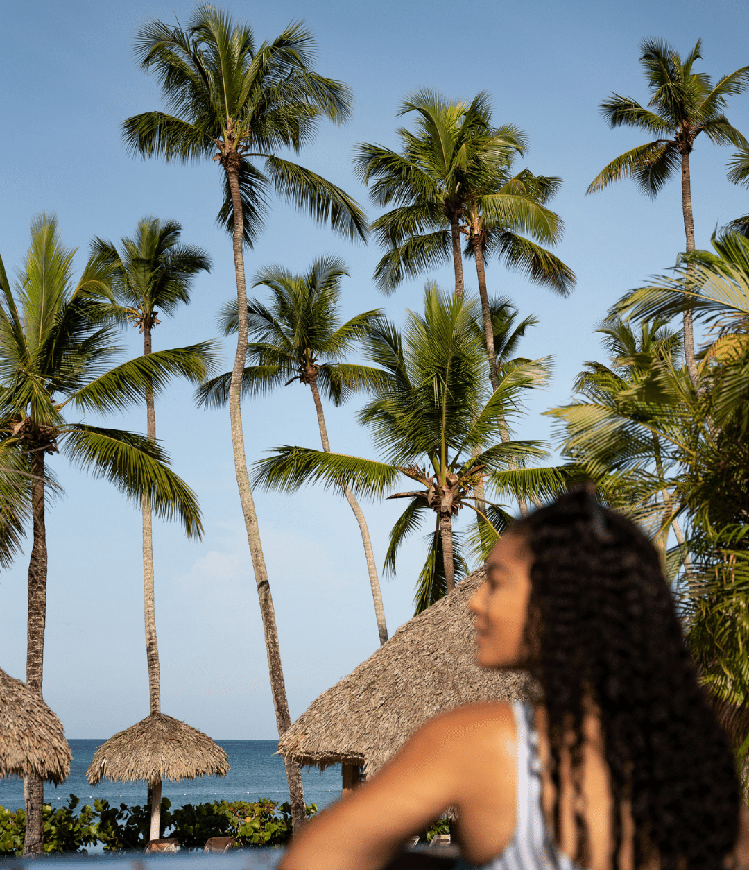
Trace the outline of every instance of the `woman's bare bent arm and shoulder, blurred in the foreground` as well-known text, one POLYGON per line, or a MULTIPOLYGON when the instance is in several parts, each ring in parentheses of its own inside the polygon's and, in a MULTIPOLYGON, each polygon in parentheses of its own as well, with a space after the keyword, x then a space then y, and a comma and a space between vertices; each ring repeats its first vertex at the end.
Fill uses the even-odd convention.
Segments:
MULTIPOLYGON (((278 870, 377 870, 448 806, 458 806, 462 819, 466 812, 475 816, 474 803, 498 826, 498 853, 514 824, 514 744, 508 747, 503 735, 514 740, 507 705, 465 707, 432 719, 377 776, 311 820, 278 870), (498 799, 510 807, 509 819, 497 813, 498 799)), ((475 822, 467 826, 469 836, 475 822)))

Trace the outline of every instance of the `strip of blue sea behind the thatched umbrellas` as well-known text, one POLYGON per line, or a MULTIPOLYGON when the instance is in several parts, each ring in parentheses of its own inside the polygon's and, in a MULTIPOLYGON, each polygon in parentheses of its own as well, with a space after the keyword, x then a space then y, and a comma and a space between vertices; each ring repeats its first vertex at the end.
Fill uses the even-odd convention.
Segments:
MULTIPOLYGON (((283 803, 289 800, 284 760, 276 752, 275 740, 217 740, 229 756, 231 770, 225 777, 202 777, 183 782, 164 782, 162 797, 171 800, 171 806, 202 804, 214 800, 257 800, 271 798, 283 803)), ((81 803, 93 805, 97 798, 109 800, 110 806, 128 804, 143 806, 147 789, 143 782, 109 782, 90 786, 86 781, 86 768, 94 757, 97 746, 104 740, 68 740, 73 753, 70 776, 62 786, 44 783, 44 802, 64 806, 70 793, 81 803)), ((334 765, 323 772, 317 768, 302 771, 304 800, 317 804, 320 809, 341 796, 341 767, 334 765)), ((15 810, 23 807, 23 780, 0 780, 0 806, 15 810)))

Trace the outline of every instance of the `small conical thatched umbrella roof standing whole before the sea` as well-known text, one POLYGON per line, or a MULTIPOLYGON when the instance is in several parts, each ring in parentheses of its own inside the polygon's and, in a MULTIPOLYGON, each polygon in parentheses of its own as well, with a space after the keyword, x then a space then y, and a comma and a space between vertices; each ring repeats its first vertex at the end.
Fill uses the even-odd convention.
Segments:
POLYGON ((229 758, 221 746, 197 728, 159 713, 99 746, 86 779, 92 786, 102 780, 142 780, 152 786, 161 780, 179 782, 228 772, 229 758))

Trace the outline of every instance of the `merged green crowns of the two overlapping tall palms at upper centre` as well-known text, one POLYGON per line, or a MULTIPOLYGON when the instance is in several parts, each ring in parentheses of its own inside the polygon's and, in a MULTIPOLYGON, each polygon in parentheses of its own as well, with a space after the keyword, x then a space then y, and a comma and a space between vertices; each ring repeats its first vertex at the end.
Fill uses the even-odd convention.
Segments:
POLYGON ((398 110, 399 115, 410 112, 417 113, 417 130, 398 130, 400 152, 363 143, 355 157, 372 200, 381 206, 395 204, 372 224, 387 249, 375 271, 380 289, 393 291, 405 278, 452 258, 455 290, 461 293, 462 236, 471 238, 475 224, 487 252, 568 291, 572 272, 519 235, 549 243, 562 229, 558 216, 544 204, 558 179, 537 178, 528 171, 512 175, 514 156, 525 149, 523 132, 512 124, 493 126, 483 92, 467 103, 449 102, 431 90, 416 91, 398 110))

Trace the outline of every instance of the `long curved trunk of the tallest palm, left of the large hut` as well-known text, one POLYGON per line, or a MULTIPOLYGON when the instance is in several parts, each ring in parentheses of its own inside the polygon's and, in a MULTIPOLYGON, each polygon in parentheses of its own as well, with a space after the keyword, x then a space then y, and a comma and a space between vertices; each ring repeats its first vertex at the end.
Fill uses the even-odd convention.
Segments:
MULTIPOLYGON (((237 155, 233 155, 237 157, 237 155)), ((237 157, 237 161, 238 161, 237 157)), ((234 357, 234 366, 231 370, 231 385, 229 387, 229 415, 231 418, 231 444, 234 450, 234 468, 237 473, 237 489, 239 500, 244 514, 244 527, 247 530, 247 542, 250 545, 252 567, 255 571, 255 583, 257 584, 257 598, 260 601, 260 614, 263 618, 263 630, 265 635, 265 651, 268 655, 268 670, 271 676, 271 693, 273 706, 276 710, 276 723, 278 736, 281 737, 291 726, 289 714, 289 702, 286 699, 286 686, 284 684, 284 670, 281 666, 281 653, 278 649, 278 629, 276 627, 276 614, 273 610, 271 586, 268 582, 268 572, 265 567, 263 546, 260 542, 260 531, 257 526, 257 513, 255 501, 252 498, 250 477, 247 473, 247 459, 244 456, 244 432, 242 431, 242 412, 240 407, 242 393, 242 375, 244 373, 244 361, 247 355, 247 288, 244 284, 244 255, 242 251, 244 220, 242 214, 242 199, 239 194, 239 171, 237 164, 226 166, 231 190, 231 203, 234 211, 234 271, 237 278, 237 353, 234 357)), ((289 783, 289 797, 291 803, 291 824, 293 830, 298 831, 306 821, 304 806, 304 788, 302 786, 302 773, 294 761, 284 759, 286 767, 286 779, 289 783)))

